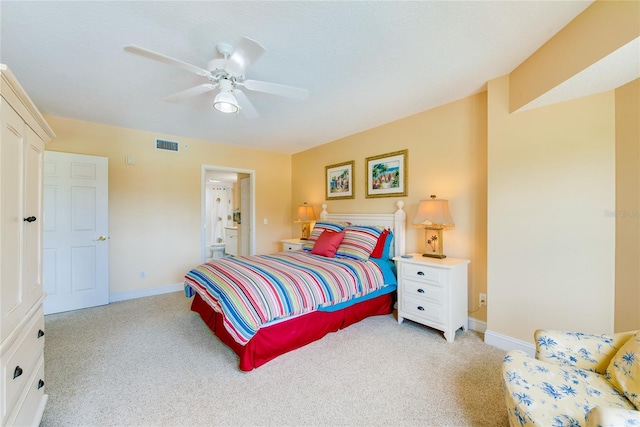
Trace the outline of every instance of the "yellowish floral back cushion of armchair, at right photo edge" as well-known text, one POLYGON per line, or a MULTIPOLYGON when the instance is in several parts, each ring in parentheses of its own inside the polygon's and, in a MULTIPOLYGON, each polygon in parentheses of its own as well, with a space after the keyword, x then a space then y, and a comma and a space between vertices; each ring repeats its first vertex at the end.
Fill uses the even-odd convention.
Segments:
POLYGON ((607 378, 640 410, 640 331, 613 356, 607 378))

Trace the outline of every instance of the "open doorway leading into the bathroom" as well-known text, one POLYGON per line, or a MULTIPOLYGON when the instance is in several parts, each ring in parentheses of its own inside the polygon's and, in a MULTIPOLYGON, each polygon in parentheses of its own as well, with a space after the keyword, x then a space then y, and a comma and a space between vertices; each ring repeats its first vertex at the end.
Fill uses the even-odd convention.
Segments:
POLYGON ((255 171, 202 165, 202 262, 255 253, 255 171))

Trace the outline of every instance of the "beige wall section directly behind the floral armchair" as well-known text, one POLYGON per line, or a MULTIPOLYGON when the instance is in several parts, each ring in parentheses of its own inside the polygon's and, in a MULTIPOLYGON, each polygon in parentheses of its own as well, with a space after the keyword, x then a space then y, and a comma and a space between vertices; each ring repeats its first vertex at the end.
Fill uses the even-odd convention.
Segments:
POLYGON ((613 332, 614 92, 509 114, 490 81, 488 170, 487 334, 613 332))

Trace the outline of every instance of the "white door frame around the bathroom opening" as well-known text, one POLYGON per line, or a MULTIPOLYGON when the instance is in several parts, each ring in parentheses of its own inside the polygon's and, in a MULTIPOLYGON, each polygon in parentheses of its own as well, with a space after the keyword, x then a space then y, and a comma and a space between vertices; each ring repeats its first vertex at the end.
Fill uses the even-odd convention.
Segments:
POLYGON ((249 209, 249 218, 245 217, 245 213, 242 212, 242 220, 245 221, 245 218, 249 222, 249 255, 255 255, 256 248, 256 171, 253 169, 240 169, 240 168, 231 168, 228 166, 216 166, 216 165, 201 165, 200 171, 200 258, 202 262, 207 261, 207 200, 206 200, 206 192, 207 192, 207 171, 221 171, 221 172, 233 172, 233 173, 244 173, 249 175, 249 194, 251 200, 251 209, 249 209))

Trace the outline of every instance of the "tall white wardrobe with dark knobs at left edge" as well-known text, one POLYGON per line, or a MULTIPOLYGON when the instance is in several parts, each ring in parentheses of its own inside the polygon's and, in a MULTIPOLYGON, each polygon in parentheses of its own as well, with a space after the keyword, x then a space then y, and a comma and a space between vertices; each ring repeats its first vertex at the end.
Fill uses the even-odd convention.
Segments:
POLYGON ((55 134, 0 64, 0 423, 38 425, 44 388, 42 185, 55 134))

